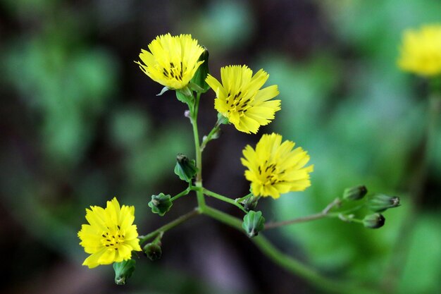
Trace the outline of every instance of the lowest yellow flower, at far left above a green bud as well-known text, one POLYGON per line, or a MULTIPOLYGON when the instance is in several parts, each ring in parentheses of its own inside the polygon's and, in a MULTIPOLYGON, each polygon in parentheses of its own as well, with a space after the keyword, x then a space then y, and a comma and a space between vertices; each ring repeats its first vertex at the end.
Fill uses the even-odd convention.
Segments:
POLYGON ((132 250, 140 251, 135 220, 135 207, 123 205, 118 200, 107 202, 107 207, 91 206, 86 209, 90 224, 82 225, 78 232, 80 245, 90 256, 82 265, 89 269, 100 264, 122 262, 132 257, 132 250))

